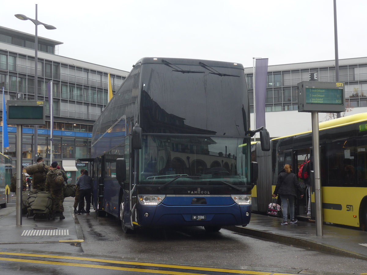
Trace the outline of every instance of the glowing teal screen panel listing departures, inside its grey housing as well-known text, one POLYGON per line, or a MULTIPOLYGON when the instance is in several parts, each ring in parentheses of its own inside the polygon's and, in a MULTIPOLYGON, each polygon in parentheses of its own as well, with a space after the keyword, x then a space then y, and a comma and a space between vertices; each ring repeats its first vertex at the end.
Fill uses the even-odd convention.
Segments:
POLYGON ((343 89, 306 88, 306 103, 343 105, 343 89))

